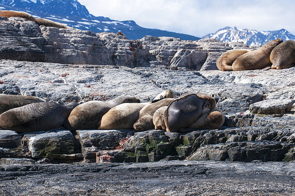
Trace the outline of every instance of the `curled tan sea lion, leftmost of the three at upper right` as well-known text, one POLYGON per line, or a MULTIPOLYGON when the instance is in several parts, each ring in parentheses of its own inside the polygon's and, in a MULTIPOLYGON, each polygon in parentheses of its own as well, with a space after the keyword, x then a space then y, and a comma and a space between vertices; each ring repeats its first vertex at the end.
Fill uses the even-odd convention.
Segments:
POLYGON ((234 49, 224 52, 216 62, 217 68, 221 71, 232 71, 232 63, 237 59, 237 57, 253 51, 252 49, 234 49))

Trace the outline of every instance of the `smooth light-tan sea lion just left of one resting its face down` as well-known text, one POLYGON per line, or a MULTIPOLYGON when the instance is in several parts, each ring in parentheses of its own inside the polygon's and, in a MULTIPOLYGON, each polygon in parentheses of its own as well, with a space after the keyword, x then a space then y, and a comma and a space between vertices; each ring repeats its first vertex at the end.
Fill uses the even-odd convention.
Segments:
POLYGON ((102 118, 99 130, 133 129, 139 111, 148 103, 123 103, 110 109, 102 118))

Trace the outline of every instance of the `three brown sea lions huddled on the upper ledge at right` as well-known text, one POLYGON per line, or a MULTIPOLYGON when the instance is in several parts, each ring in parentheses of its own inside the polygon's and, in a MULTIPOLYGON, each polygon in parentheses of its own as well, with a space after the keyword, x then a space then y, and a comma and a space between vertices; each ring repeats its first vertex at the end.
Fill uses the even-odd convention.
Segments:
POLYGON ((256 69, 284 69, 294 67, 295 41, 275 39, 257 50, 234 49, 224 52, 217 59, 221 71, 256 69))

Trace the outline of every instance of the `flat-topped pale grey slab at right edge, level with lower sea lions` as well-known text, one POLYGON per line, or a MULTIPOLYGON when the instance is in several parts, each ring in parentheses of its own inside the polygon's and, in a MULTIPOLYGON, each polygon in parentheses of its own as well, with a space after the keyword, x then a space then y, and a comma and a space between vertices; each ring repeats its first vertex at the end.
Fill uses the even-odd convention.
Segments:
POLYGON ((251 104, 249 110, 256 114, 283 114, 290 112, 294 103, 292 99, 268 99, 251 104))

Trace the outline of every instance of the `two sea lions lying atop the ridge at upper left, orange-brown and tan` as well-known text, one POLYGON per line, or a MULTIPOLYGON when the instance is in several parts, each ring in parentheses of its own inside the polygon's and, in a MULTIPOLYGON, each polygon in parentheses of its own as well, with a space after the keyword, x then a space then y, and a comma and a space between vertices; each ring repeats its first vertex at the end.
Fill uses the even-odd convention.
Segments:
POLYGON ((59 23, 59 22, 54 22, 52 20, 48 20, 48 19, 44 19, 44 18, 34 18, 32 15, 25 13, 25 12, 1 10, 0 16, 6 17, 6 18, 21 17, 21 18, 36 22, 39 26, 44 25, 46 27, 56 27, 59 29, 73 29, 72 27, 69 27, 69 26, 59 23))

